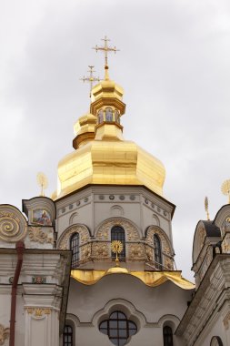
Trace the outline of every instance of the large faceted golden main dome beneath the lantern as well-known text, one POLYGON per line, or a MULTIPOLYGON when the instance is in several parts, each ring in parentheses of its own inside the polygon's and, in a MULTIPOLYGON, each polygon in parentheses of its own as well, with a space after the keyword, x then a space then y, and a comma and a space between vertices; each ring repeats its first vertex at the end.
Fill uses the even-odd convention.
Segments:
POLYGON ((93 140, 58 165, 62 198, 88 184, 144 185, 162 196, 165 168, 131 141, 93 140))

